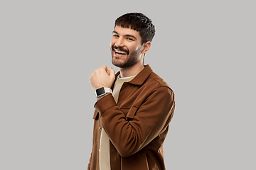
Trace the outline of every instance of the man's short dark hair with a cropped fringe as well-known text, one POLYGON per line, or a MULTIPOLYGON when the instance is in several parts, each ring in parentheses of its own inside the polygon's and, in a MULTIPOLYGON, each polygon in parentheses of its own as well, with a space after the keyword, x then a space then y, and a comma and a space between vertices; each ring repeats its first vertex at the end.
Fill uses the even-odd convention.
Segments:
POLYGON ((142 38, 142 44, 151 42, 156 32, 152 21, 142 13, 126 13, 119 16, 114 24, 114 27, 116 26, 137 30, 142 38))

